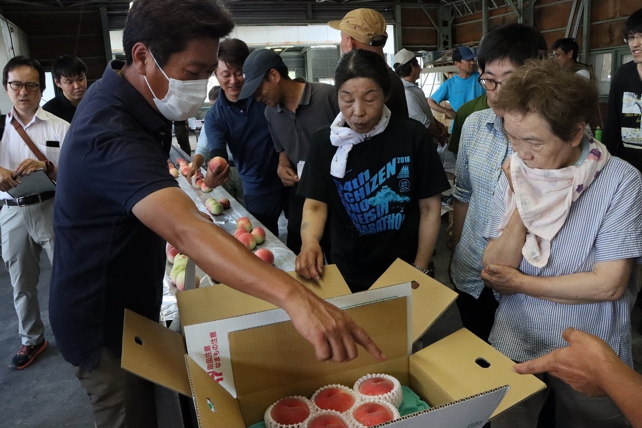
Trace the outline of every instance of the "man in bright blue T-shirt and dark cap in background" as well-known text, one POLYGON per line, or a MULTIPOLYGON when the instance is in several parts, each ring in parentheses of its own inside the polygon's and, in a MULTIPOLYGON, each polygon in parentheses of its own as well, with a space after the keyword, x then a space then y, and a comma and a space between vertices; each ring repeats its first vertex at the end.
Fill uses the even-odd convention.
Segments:
POLYGON ((475 70, 474 58, 475 55, 471 49, 465 46, 455 48, 453 62, 459 72, 442 83, 439 89, 428 98, 428 105, 430 105, 431 109, 438 113, 446 114, 450 119, 454 119, 455 112, 462 104, 486 93, 477 82, 480 73, 475 70), (451 107, 439 105, 444 100, 447 100, 451 107))

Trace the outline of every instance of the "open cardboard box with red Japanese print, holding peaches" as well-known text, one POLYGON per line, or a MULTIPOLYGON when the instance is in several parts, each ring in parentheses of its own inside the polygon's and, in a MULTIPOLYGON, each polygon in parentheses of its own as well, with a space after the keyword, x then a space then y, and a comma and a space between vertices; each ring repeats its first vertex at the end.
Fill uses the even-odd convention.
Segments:
MULTIPOLYGON (((214 285, 179 293, 179 314, 186 337, 191 335, 189 330, 220 332, 221 325, 233 330, 244 323, 258 323, 227 334, 234 395, 223 388, 229 380, 225 366, 213 370, 206 367, 208 375, 196 363, 204 355, 185 355, 182 335, 133 312, 125 314, 122 366, 192 396, 200 426, 214 428, 260 422, 265 409, 279 398, 310 397, 317 388, 331 383, 352 386, 368 373, 397 377, 432 407, 392 422, 391 427, 482 426, 490 417, 544 388, 534 376, 514 373, 512 361, 465 329, 411 355, 412 342, 453 303, 456 293, 401 260, 371 290, 352 296, 345 296, 349 289, 334 266, 326 267, 320 284, 304 283, 324 298, 343 296, 334 301, 368 301, 345 310, 379 344, 386 361, 376 361, 363 349, 349 362, 317 361, 313 348, 290 321, 264 322, 282 319, 282 310, 229 287, 214 285), (394 285, 398 283, 404 285, 394 285)), ((198 337, 187 339, 187 348, 202 348, 189 343, 193 341, 198 337)), ((217 346, 217 352, 223 352, 222 346, 217 346)))

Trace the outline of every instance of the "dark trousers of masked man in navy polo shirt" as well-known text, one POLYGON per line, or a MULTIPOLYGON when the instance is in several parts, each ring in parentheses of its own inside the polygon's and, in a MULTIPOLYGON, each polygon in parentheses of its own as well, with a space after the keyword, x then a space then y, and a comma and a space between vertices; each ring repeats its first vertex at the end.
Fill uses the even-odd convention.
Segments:
POLYGON ((106 348, 90 371, 76 368, 97 428, 157 428, 154 384, 121 368, 106 348))

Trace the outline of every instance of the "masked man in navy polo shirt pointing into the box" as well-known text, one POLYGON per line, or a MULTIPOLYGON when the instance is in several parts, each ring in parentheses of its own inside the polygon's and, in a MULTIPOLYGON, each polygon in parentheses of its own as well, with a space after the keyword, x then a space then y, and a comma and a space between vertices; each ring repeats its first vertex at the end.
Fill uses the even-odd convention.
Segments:
POLYGON ((352 359, 356 343, 383 359, 338 308, 214 226, 168 172, 171 121, 202 105, 233 25, 215 0, 134 1, 126 62, 108 64, 65 139, 49 319, 98 427, 156 426, 153 385, 122 370, 120 356, 125 308, 159 320, 166 240, 216 280, 284 308, 319 359, 352 359))

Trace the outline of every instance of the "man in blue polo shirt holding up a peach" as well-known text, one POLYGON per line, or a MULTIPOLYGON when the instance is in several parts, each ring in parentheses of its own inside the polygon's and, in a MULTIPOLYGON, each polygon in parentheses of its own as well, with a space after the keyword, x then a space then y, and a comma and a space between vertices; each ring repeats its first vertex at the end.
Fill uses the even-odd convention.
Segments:
MULTIPOLYGON (((279 155, 274 150, 265 104, 254 97, 240 99, 243 87, 243 61, 250 55, 247 44, 225 39, 218 48, 216 79, 221 85, 218 100, 205 116, 205 132, 210 156, 227 158, 227 145, 243 182, 245 208, 279 235, 279 215, 288 199, 288 190, 277 175, 279 155)), ((227 173, 205 180, 214 188, 226 181, 227 173)))

